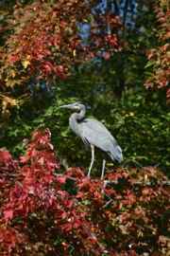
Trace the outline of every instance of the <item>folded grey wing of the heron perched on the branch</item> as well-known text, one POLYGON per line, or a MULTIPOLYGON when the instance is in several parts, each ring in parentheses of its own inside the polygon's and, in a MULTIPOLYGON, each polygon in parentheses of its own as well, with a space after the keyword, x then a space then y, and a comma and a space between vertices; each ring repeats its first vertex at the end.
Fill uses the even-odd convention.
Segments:
POLYGON ((112 159, 122 161, 122 149, 111 136, 108 129, 96 119, 84 119, 81 122, 81 138, 85 143, 107 152, 112 159))

